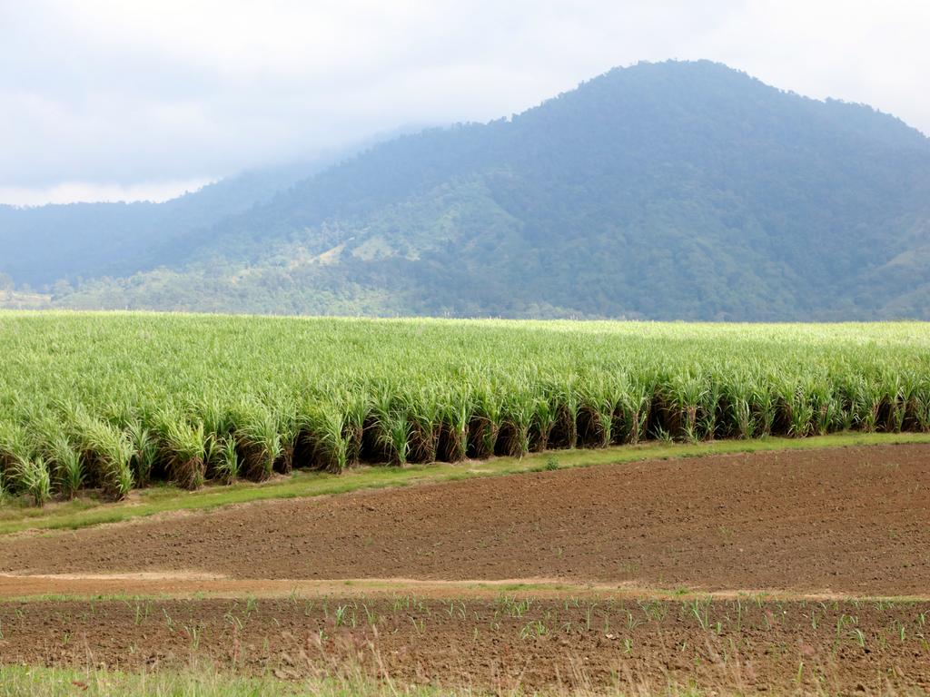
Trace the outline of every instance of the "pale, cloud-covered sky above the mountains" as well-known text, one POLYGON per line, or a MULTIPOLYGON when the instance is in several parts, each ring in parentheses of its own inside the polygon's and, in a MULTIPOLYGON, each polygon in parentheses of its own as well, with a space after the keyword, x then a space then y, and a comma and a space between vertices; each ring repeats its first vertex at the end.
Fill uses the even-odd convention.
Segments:
POLYGON ((0 0, 0 203, 165 200, 713 59, 930 133, 926 0, 0 0))

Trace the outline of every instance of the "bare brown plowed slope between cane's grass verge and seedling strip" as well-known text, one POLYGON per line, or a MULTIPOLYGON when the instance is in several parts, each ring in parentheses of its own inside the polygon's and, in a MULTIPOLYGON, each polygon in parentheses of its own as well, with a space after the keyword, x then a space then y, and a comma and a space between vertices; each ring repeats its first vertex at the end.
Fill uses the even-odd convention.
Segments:
POLYGON ((926 595, 930 445, 647 461, 258 503, 3 539, 0 572, 926 595))

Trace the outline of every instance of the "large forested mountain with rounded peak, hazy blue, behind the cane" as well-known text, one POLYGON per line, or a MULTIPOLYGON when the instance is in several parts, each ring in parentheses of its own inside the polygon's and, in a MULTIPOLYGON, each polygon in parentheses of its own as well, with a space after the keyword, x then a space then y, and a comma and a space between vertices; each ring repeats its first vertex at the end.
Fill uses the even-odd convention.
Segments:
POLYGON ((381 143, 136 258, 55 302, 930 319, 930 139, 724 65, 641 63, 381 143))

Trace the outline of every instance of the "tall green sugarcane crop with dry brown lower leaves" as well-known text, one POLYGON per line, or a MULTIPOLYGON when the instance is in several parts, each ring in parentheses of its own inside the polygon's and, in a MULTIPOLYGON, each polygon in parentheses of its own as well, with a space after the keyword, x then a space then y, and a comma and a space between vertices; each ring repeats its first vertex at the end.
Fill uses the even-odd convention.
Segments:
POLYGON ((923 323, 0 314, 0 487, 44 504, 647 440, 930 431, 923 323))

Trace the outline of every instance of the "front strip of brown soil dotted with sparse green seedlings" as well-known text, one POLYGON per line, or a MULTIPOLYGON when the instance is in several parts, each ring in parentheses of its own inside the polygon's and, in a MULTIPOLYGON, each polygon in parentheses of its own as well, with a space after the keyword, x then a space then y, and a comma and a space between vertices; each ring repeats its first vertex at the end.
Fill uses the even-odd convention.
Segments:
POLYGON ((192 662, 505 692, 925 693, 930 603, 396 596, 0 604, 6 663, 192 662))

